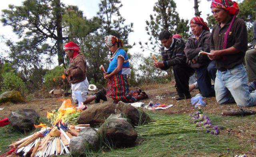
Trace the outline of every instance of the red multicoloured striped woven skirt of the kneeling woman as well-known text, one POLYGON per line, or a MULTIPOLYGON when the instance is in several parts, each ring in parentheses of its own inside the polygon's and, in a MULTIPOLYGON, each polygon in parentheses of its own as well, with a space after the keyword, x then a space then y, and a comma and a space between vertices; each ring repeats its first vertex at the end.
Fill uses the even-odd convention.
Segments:
POLYGON ((116 74, 108 79, 106 95, 114 100, 114 103, 123 101, 133 103, 137 101, 134 91, 129 91, 127 75, 116 74), (135 97, 134 97, 135 96, 135 97))

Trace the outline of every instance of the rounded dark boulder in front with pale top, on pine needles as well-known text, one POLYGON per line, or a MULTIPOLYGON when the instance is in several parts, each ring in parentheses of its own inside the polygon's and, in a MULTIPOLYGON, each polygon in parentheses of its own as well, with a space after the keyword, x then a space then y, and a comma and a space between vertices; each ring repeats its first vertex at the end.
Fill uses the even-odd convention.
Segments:
POLYGON ((110 115, 101 125, 99 134, 109 147, 128 147, 134 145, 138 134, 127 119, 110 115))

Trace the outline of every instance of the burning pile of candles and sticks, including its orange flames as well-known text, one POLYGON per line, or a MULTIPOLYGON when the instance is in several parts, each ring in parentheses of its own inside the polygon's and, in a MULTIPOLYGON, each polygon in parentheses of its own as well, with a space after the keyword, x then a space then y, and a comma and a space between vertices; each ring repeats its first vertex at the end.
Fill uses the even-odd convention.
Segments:
POLYGON ((40 123, 35 125, 36 128, 42 128, 34 134, 12 142, 10 151, 4 155, 14 152, 19 156, 31 157, 48 157, 51 155, 62 155, 69 153, 69 144, 72 137, 78 136, 80 129, 90 125, 68 125, 71 114, 80 113, 72 105, 71 100, 64 100, 58 110, 47 113, 47 118, 51 121, 52 126, 40 123))

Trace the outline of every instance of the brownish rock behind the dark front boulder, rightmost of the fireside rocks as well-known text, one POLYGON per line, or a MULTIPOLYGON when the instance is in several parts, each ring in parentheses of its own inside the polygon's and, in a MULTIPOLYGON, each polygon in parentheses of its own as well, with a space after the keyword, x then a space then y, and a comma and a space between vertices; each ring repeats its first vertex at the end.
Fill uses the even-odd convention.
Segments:
POLYGON ((150 117, 142 110, 136 109, 129 103, 119 101, 116 105, 116 113, 122 112, 128 119, 130 119, 132 125, 142 125, 150 121, 150 117))

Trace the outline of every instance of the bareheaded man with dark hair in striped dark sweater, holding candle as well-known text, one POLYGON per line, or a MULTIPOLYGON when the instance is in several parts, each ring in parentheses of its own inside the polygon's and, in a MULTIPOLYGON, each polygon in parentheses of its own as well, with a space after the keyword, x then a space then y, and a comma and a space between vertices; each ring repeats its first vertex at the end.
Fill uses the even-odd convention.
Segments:
POLYGON ((188 91, 188 80, 194 70, 186 63, 187 58, 184 53, 186 43, 181 38, 172 38, 172 34, 167 30, 160 32, 159 40, 163 46, 162 62, 155 62, 154 66, 162 70, 172 67, 176 81, 175 87, 179 95, 176 100, 189 99, 191 95, 188 91))

